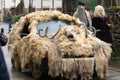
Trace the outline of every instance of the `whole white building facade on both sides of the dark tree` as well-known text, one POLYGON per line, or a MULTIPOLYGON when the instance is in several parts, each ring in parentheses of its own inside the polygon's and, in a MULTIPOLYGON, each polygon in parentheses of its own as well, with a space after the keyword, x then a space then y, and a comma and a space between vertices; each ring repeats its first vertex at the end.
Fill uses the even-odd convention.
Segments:
MULTIPOLYGON (((24 1, 25 13, 29 12, 31 5, 35 11, 39 10, 62 10, 62 0, 22 0, 24 1), (31 1, 31 3, 29 2, 31 1)), ((6 11, 10 8, 17 7, 21 0, 0 0, 0 17, 3 20, 6 11)))

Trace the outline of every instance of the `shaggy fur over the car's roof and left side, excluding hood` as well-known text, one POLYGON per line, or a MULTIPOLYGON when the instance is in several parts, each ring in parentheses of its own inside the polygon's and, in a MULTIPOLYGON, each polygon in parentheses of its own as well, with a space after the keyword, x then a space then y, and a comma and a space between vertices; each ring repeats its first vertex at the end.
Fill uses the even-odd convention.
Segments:
POLYGON ((37 11, 21 17, 20 20, 13 25, 9 36, 8 50, 13 58, 16 54, 20 58, 20 60, 18 60, 21 63, 19 67, 24 69, 31 61, 37 64, 41 63, 41 59, 48 53, 48 46, 46 46, 46 44, 49 44, 50 41, 49 39, 40 38, 40 36, 36 34, 38 33, 36 27, 39 23, 54 19, 73 23, 75 23, 76 20, 74 17, 67 14, 65 15, 59 11, 37 11), (28 31, 30 34, 21 38, 20 35, 23 28, 27 27, 25 26, 26 23, 29 23, 28 31), (19 45, 19 43, 21 44, 19 45))

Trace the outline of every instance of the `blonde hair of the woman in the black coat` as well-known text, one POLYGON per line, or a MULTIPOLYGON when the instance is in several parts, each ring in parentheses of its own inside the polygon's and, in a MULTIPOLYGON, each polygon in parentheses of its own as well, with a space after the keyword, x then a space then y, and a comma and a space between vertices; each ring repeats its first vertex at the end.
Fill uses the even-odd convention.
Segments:
POLYGON ((94 17, 104 17, 106 16, 104 7, 101 5, 97 5, 94 10, 94 17), (102 10, 102 14, 100 13, 100 9, 102 10))

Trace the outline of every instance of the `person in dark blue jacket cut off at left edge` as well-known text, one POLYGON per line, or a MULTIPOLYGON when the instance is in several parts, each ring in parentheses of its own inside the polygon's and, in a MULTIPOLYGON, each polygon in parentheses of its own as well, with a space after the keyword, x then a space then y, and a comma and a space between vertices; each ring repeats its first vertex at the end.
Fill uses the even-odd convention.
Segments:
POLYGON ((1 33, 0 34, 0 80, 10 80, 4 55, 1 49, 1 46, 5 46, 6 44, 7 44, 7 37, 3 33, 1 33))

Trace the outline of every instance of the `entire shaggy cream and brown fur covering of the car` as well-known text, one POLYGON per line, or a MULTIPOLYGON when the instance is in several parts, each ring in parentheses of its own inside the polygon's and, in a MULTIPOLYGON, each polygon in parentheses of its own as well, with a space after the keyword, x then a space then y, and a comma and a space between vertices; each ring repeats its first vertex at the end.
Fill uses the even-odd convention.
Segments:
POLYGON ((81 23, 59 11, 37 11, 21 17, 9 36, 8 50, 13 65, 16 69, 24 69, 31 63, 41 65, 42 59, 48 57, 48 74, 52 77, 61 75, 72 80, 81 76, 81 80, 91 80, 94 66, 101 79, 108 77, 108 60, 112 52, 110 44, 92 36, 89 30, 86 38, 84 25, 77 26, 81 23), (54 19, 71 24, 61 28, 52 39, 53 34, 44 38, 36 34, 39 23, 54 19), (29 34, 21 38, 26 23, 29 23, 29 34))

